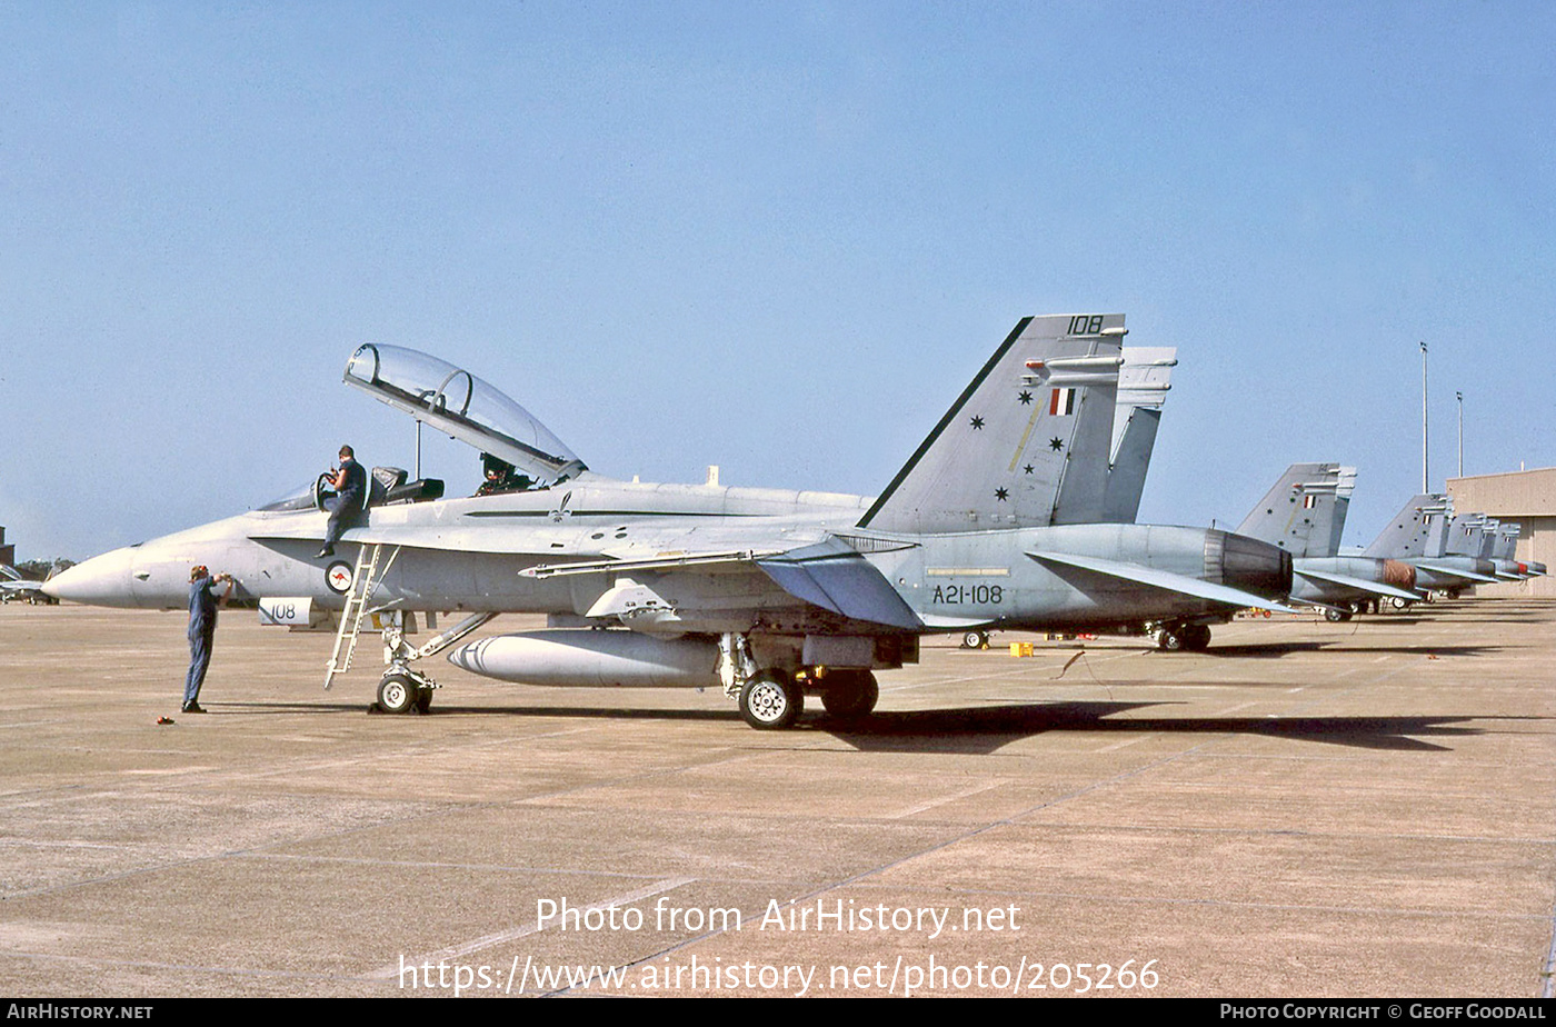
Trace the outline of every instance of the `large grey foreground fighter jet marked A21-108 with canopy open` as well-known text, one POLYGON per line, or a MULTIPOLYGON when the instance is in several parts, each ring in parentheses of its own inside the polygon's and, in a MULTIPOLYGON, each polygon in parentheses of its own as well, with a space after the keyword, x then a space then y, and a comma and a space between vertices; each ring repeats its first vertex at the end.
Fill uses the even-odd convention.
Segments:
POLYGON ((1198 528, 1103 524, 1122 314, 1024 317, 873 501, 591 471, 524 408, 464 369, 361 345, 347 384, 506 461, 527 487, 439 498, 377 482, 342 546, 316 484, 265 507, 81 563, 61 598, 182 607, 191 563, 230 573, 261 616, 339 618, 328 678, 367 613, 386 618, 378 705, 426 710, 417 660, 532 685, 716 686, 758 728, 806 696, 862 716, 876 671, 916 661, 926 633, 1159 622, 1192 646, 1234 610, 1281 602, 1291 557, 1198 528), (470 616, 426 644, 414 615, 470 616), (548 629, 465 643, 503 612, 548 629), (462 643, 462 644, 461 644, 462 643))

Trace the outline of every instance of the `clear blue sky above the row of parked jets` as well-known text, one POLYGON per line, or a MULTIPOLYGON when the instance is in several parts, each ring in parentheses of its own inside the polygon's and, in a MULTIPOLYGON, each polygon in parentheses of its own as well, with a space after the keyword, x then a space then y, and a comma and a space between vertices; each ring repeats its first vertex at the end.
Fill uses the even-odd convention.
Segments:
MULTIPOLYGON (((1142 521, 1556 464, 1556 8, 6 3, 0 524, 84 559, 411 422, 442 355, 591 468, 873 495, 1025 314, 1179 367, 1142 521)), ((428 448, 473 485, 475 454, 428 448)))

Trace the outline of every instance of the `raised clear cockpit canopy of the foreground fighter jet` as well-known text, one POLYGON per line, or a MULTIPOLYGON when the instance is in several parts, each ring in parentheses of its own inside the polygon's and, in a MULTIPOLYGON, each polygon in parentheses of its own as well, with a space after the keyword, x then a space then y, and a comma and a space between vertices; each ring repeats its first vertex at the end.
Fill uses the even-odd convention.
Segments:
POLYGON ((436 356, 366 342, 345 364, 345 384, 507 461, 537 484, 555 484, 585 470, 584 461, 529 411, 436 356))

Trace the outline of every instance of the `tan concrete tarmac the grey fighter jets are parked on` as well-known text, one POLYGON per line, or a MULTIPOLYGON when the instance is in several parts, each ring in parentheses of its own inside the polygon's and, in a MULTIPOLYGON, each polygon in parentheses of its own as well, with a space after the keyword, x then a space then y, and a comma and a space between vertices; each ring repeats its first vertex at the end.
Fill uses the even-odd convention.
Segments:
POLYGON ((369 716, 375 638, 325 692, 235 610, 185 716, 182 613, 6 605, 0 993, 1550 996, 1553 621, 937 640, 772 733, 442 658, 369 716))

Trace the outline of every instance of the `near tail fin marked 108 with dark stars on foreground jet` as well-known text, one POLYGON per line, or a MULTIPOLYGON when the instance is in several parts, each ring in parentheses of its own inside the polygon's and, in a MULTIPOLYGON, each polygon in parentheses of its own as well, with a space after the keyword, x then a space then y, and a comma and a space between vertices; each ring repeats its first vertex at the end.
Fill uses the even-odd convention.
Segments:
POLYGON ((1123 331, 1123 314, 1022 319, 859 526, 1100 521, 1123 331))

